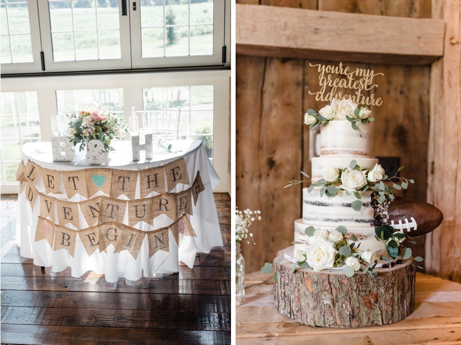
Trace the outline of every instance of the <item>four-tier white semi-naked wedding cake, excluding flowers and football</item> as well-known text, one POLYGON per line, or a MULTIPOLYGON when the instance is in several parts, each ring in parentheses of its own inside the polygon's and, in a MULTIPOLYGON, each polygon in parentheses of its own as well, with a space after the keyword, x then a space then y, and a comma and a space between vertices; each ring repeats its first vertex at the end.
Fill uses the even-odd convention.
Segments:
MULTIPOLYGON (((321 127, 320 157, 312 158, 312 184, 321 179, 336 180, 339 177, 338 171, 349 167, 351 161, 357 162, 362 170, 368 171, 378 164, 378 159, 369 157, 371 123, 358 123, 357 127, 358 130, 354 130, 347 120, 329 121, 321 127)), ((339 189, 336 196, 329 197, 326 193, 321 195, 321 188, 303 188, 303 218, 295 221, 295 253, 305 250, 304 244, 309 241, 305 229, 309 226, 331 232, 343 225, 347 229, 346 238, 354 234, 357 244, 360 243, 360 249, 373 252, 386 249, 383 242, 374 238, 376 222, 371 190, 361 192, 360 200, 364 211, 360 212, 351 207, 358 200, 352 190, 348 192, 339 189)))

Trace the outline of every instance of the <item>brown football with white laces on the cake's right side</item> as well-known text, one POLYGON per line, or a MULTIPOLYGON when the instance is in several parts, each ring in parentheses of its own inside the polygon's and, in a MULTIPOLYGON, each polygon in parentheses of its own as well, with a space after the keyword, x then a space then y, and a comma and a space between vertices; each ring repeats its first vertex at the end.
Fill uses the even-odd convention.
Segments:
POLYGON ((395 198, 389 205, 389 225, 411 237, 434 230, 444 220, 437 207, 408 198, 395 198))

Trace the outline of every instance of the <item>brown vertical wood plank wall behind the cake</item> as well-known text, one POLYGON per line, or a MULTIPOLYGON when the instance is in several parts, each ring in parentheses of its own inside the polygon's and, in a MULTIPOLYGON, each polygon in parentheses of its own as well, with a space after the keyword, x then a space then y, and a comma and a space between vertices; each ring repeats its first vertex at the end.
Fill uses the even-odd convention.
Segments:
MULTIPOLYGON (((237 3, 286 6, 375 15, 430 18, 431 0, 237 0, 237 3)), ((238 18, 237 18, 238 27, 238 18)), ((300 32, 302 34, 302 32, 300 32)), ((360 39, 360 36, 358 36, 360 39)), ((351 42, 353 44, 353 42, 351 42)), ((320 109, 307 91, 319 90, 318 73, 303 59, 236 57, 236 202, 240 209, 260 209, 254 223, 256 246, 242 245, 246 271, 271 262, 290 245, 295 219, 302 214, 302 188, 283 189, 286 181, 310 172, 305 111, 320 109)), ((426 201, 430 66, 353 63, 383 72, 373 90, 384 102, 372 107, 372 155, 400 157, 402 176, 415 185, 400 195, 426 201)), ((378 78, 378 77, 377 77, 378 78)), ((424 256, 424 238, 414 253, 424 256)))

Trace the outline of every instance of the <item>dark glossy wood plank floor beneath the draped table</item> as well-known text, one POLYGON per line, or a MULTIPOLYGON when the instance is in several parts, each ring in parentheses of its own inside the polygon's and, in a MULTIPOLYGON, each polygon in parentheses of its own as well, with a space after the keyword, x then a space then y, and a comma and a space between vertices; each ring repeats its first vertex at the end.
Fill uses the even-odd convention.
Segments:
POLYGON ((15 244, 16 196, 2 196, 2 344, 231 343, 231 199, 215 193, 224 247, 194 269, 117 283, 87 272, 42 274, 15 244))

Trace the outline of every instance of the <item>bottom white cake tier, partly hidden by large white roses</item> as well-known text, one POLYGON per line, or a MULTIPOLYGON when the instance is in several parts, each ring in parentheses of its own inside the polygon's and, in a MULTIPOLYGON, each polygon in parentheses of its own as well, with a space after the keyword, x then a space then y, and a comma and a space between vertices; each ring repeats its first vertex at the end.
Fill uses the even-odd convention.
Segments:
MULTIPOLYGON (((313 238, 306 235, 305 230, 309 226, 313 226, 316 230, 327 230, 332 231, 335 230, 338 226, 344 225, 342 223, 333 224, 331 225, 315 225, 312 223, 308 223, 303 221, 303 219, 297 219, 295 221, 295 242, 302 242, 304 244, 295 244, 295 253, 297 250, 306 250, 305 244, 309 243, 313 238)), ((346 226, 347 233, 346 235, 354 234, 357 237, 357 244, 360 243, 359 249, 361 250, 371 250, 373 252, 381 252, 386 249, 386 246, 383 242, 376 241, 374 238, 374 226, 363 226, 363 227, 350 227, 346 226)))

